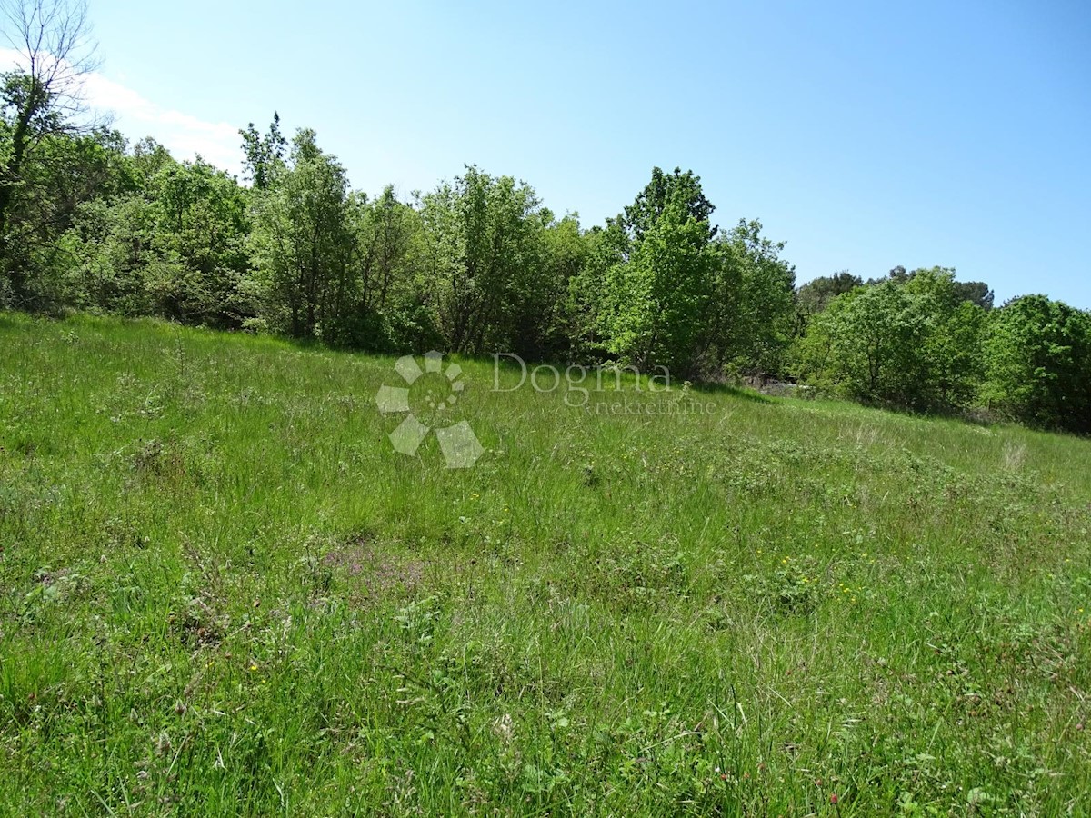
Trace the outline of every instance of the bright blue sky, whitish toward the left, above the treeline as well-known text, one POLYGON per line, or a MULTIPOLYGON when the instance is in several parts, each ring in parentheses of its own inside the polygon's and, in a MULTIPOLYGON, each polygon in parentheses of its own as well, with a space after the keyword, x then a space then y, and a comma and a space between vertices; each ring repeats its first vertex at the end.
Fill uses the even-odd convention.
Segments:
MULTIPOLYGON (((1091 308, 1091 5, 1044 2, 236 4, 91 0, 119 117, 237 161, 314 128, 353 187, 473 163, 585 226, 652 166, 759 218, 800 280, 954 266, 997 300, 1091 308)), ((237 166, 236 166, 237 167, 237 166)))

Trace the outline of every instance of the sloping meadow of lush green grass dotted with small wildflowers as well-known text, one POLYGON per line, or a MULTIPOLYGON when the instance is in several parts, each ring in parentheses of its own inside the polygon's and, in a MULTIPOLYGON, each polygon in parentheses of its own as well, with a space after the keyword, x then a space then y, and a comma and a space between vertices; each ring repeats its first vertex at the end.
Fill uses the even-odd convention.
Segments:
POLYGON ((1091 442, 461 365, 0 314, 0 814, 1091 804, 1091 442))

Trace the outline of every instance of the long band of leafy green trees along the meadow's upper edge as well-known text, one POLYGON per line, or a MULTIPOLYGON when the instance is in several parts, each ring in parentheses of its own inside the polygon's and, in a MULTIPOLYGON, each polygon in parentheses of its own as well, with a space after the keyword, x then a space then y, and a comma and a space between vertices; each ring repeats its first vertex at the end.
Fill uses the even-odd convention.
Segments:
MULTIPOLYGON (((796 287, 783 242, 659 168, 603 225, 467 167, 353 191, 313 131, 240 131, 244 178, 87 124, 82 7, 24 3, 2 74, 0 308, 157 316, 374 352, 439 348, 772 376, 863 402, 1091 432, 1091 313, 995 306, 944 267, 796 287), (47 14, 45 11, 48 11, 47 14), (20 16, 21 14, 21 16, 20 16)), ((1028 270, 1028 275, 1030 275, 1028 270)))

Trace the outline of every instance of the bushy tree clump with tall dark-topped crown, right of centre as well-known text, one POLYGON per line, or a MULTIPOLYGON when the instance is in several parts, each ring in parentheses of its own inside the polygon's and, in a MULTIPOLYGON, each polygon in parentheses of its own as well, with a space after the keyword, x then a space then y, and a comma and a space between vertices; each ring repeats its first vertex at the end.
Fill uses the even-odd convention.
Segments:
POLYGON ((710 227, 699 182, 692 171, 656 168, 625 214, 589 237, 571 293, 576 334, 611 357, 680 376, 779 371, 794 287, 783 243, 762 237, 758 221, 710 227))

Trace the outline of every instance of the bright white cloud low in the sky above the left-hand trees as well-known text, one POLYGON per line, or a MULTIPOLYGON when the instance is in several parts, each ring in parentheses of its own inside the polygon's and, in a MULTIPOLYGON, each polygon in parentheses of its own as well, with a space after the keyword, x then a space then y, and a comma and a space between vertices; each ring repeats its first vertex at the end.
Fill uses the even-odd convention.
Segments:
MULTIPOLYGON (((23 63, 19 51, 0 48, 0 70, 23 63)), ((113 115, 113 127, 130 140, 152 136, 178 159, 196 155, 232 173, 240 170, 239 127, 206 122, 183 111, 166 108, 101 73, 83 80, 84 103, 94 111, 113 115)))

